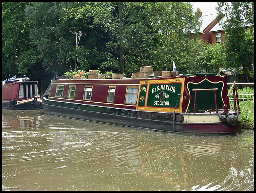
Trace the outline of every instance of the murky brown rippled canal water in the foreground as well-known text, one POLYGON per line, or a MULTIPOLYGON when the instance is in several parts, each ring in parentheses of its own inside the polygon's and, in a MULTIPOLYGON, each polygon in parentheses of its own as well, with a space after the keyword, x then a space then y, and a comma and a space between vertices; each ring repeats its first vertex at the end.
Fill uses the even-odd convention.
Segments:
POLYGON ((2 190, 253 191, 254 131, 178 135, 3 109, 2 190))

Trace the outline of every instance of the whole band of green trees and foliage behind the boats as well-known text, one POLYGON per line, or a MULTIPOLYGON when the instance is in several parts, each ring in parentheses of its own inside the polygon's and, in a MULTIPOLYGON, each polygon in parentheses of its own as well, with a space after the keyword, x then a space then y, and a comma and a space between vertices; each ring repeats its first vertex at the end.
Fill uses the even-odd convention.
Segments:
MULTIPOLYGON (((252 22, 254 10, 242 9, 250 2, 235 5, 227 10, 252 22)), ((231 30, 238 44, 190 42, 186 34, 198 31, 198 15, 189 2, 2 2, 2 75, 26 74, 46 89, 55 71, 75 68, 77 51, 78 69, 86 72, 129 77, 140 66, 172 70, 174 61, 180 74, 242 67, 253 77, 254 28, 231 30)))

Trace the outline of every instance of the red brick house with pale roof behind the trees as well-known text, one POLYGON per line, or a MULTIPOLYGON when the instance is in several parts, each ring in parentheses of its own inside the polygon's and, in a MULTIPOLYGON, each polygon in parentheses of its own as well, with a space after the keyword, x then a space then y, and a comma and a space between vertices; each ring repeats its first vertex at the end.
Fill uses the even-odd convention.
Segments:
MULTIPOLYGON (((200 10, 200 9, 198 9, 200 10)), ((198 38, 202 40, 203 42, 208 42, 208 44, 215 44, 218 42, 225 41, 224 38, 222 38, 224 34, 224 30, 217 22, 218 14, 210 14, 202 16, 202 13, 200 14, 199 20, 202 22, 202 26, 200 27, 200 32, 198 38)), ((222 18, 224 17, 224 14, 222 14, 222 18)), ((193 40, 195 38, 195 33, 192 33, 192 36, 190 36, 190 39, 193 40)))

